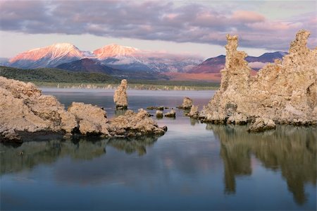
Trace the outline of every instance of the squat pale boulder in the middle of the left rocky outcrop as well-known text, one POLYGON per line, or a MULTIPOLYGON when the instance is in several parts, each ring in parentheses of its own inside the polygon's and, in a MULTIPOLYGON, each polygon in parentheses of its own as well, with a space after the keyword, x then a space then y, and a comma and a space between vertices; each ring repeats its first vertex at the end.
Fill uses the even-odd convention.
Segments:
POLYGON ((68 112, 73 114, 78 123, 78 130, 83 135, 103 134, 108 135, 108 120, 106 119, 106 111, 92 104, 84 104, 82 102, 73 102, 68 107, 68 112))

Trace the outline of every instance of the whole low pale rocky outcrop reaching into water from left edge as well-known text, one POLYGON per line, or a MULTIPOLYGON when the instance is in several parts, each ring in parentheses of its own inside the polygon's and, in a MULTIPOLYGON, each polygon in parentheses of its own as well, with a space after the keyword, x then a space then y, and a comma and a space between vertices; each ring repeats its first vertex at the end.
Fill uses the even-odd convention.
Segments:
POLYGON ((61 133, 82 135, 125 136, 162 135, 160 128, 139 110, 126 112, 114 119, 106 118, 106 111, 92 104, 73 102, 68 111, 55 97, 42 95, 32 83, 0 77, 0 140, 18 141, 30 133, 61 133), (124 132, 125 131, 125 132, 124 132))

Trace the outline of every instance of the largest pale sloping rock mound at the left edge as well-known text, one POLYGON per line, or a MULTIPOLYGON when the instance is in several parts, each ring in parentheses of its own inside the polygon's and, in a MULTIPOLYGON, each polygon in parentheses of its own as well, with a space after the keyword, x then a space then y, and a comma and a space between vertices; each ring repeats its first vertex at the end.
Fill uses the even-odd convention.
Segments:
MULTIPOLYGON (((32 83, 0 77, 0 128, 4 131, 66 131, 77 122, 55 97, 42 95, 32 83)), ((12 133, 13 134, 13 133, 12 133)))

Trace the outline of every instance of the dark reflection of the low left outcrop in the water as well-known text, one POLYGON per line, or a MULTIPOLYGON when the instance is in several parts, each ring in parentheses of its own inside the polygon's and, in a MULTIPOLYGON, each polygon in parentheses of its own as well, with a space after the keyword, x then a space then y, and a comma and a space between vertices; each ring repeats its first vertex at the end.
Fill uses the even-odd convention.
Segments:
POLYGON ((74 138, 73 140, 46 140, 25 142, 21 145, 8 145, 0 143, 1 153, 0 174, 32 169, 38 164, 50 164, 60 157, 89 160, 100 157, 106 153, 106 146, 115 147, 126 153, 138 152, 139 155, 147 153, 147 146, 153 145, 157 140, 155 136, 142 138, 74 138))

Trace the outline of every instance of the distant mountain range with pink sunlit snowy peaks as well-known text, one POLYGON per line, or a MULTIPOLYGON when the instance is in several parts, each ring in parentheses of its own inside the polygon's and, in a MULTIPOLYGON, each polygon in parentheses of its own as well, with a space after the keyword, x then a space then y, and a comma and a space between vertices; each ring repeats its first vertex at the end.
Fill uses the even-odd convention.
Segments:
MULTIPOLYGON (((286 52, 247 56, 249 66, 259 70, 268 62, 281 59, 286 52)), ((107 73, 117 78, 154 80, 220 80, 225 56, 203 61, 199 56, 151 52, 109 44, 93 52, 81 51, 69 43, 31 49, 0 64, 16 68, 60 68, 68 71, 107 73)))

